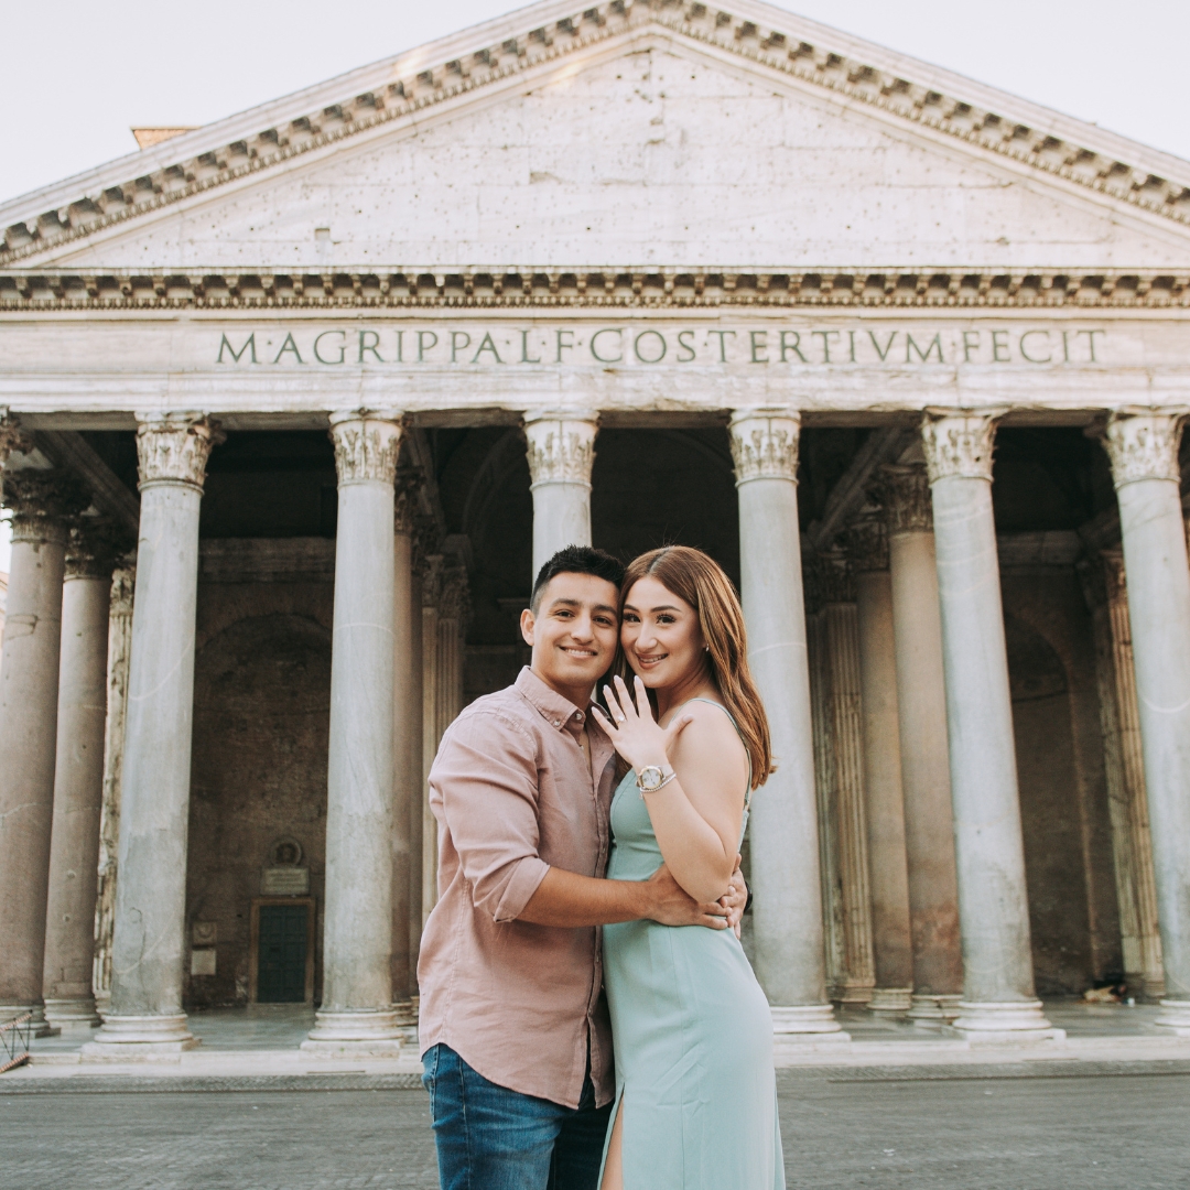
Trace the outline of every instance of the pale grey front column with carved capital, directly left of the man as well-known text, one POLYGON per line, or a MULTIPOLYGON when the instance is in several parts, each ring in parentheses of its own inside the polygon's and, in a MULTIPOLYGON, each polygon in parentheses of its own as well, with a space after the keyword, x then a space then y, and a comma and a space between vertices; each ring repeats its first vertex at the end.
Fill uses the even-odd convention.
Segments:
POLYGON ((322 1006, 302 1048, 394 1054, 395 413, 332 414, 339 476, 327 763, 322 1006))

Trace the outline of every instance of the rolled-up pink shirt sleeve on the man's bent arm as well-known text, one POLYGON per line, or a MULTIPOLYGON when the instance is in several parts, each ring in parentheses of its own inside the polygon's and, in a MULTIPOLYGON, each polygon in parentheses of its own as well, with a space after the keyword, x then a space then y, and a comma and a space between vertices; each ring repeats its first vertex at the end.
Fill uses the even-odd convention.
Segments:
POLYGON ((430 806, 450 831, 475 907, 515 919, 550 870, 538 854, 532 737, 497 713, 456 720, 430 770, 430 806))

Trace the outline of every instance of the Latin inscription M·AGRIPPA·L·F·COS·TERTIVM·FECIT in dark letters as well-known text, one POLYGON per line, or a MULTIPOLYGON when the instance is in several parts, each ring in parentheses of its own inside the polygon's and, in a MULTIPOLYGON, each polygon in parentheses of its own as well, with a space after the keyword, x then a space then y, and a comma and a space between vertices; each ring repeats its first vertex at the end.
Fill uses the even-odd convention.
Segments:
POLYGON ((1107 332, 1052 327, 983 330, 788 330, 640 326, 375 327, 223 332, 215 363, 515 368, 526 364, 651 368, 658 364, 877 368, 1103 363, 1107 332))

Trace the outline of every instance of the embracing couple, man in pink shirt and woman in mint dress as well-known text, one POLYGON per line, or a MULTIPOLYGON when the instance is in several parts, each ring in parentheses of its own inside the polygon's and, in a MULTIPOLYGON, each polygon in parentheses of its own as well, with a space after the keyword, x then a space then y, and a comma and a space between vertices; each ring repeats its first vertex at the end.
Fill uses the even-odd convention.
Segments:
POLYGON ((735 590, 684 546, 627 569, 569 546, 521 632, 531 665, 430 774, 443 1190, 782 1190, 772 1021, 737 933, 772 765, 735 590))

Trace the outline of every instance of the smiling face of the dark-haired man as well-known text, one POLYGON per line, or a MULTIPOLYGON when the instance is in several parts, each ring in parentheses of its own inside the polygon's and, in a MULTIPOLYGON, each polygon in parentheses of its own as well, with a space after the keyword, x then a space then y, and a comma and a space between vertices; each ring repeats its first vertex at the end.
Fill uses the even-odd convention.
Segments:
POLYGON ((521 612, 521 634, 533 646, 538 677, 559 693, 582 689, 585 697, 615 657, 619 599, 606 578, 555 575, 537 612, 521 612))

